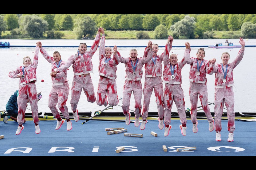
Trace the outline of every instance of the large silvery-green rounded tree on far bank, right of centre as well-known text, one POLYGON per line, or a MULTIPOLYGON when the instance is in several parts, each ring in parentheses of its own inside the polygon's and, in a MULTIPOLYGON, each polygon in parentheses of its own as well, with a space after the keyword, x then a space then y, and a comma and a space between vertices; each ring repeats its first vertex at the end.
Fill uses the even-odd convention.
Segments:
POLYGON ((195 31, 195 18, 186 15, 184 19, 175 23, 170 29, 175 38, 193 39, 195 31))

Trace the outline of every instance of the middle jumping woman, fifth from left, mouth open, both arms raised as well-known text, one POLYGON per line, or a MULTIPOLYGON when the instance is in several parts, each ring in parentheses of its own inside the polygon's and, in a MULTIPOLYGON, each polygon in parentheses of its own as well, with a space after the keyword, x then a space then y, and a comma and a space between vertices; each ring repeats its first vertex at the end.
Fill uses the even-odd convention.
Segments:
POLYGON ((143 75, 142 67, 145 63, 149 62, 153 56, 153 48, 152 42, 148 43, 147 46, 147 57, 140 57, 138 58, 138 52, 136 49, 130 50, 130 57, 123 58, 119 52, 117 55, 121 63, 125 64, 126 68, 126 80, 123 86, 123 114, 126 116, 125 123, 126 125, 130 124, 130 116, 131 113, 129 112, 130 108, 130 99, 131 93, 133 92, 134 100, 135 100, 135 122, 134 125, 136 127, 139 126, 139 116, 141 116, 141 97, 142 97, 142 84, 141 78, 143 75))

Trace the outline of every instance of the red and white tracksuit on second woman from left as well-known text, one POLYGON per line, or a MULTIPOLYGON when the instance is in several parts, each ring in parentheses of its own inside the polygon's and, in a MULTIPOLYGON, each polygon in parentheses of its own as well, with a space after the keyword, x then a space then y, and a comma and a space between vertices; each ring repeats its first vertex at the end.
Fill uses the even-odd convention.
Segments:
MULTIPOLYGON (((42 53, 43 57, 49 63, 51 63, 51 72, 53 72, 59 66, 62 66, 65 63, 65 61, 59 61, 61 62, 60 65, 59 62, 56 63, 53 57, 49 56, 49 54, 43 47, 40 48, 40 52, 42 53), (58 67, 56 64, 58 65, 58 67)), ((53 113, 53 116, 58 119, 61 117, 58 109, 56 108, 56 104, 58 103, 58 108, 61 111, 62 115, 65 117, 65 119, 69 119, 69 110, 66 106, 67 98, 69 96, 67 70, 63 70, 62 72, 57 73, 56 77, 51 77, 51 80, 53 81, 53 85, 49 94, 48 106, 53 113)))

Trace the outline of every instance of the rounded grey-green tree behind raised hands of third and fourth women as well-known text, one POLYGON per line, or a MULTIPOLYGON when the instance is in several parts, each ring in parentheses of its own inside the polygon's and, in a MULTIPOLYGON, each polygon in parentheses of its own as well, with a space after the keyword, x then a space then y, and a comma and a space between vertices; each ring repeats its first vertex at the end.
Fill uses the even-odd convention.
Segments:
POLYGON ((86 36, 92 37, 95 35, 97 30, 96 23, 89 16, 75 19, 74 32, 77 35, 77 39, 81 39, 86 36))

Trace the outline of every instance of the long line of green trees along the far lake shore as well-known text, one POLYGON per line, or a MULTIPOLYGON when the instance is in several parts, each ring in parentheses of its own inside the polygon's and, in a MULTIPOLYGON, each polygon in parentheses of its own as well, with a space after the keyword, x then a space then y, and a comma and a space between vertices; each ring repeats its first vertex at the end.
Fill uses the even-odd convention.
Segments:
MULTIPOLYGON (((97 28, 109 31, 154 31, 155 39, 209 39, 214 31, 241 31, 244 38, 255 38, 256 14, 0 14, 2 31, 13 38, 61 39, 60 31, 74 31, 77 39, 93 37, 97 28)), ((142 32, 141 32, 142 31, 142 32)))

